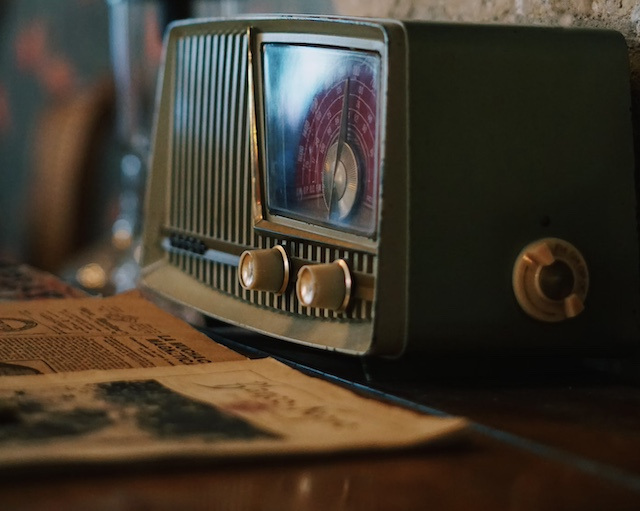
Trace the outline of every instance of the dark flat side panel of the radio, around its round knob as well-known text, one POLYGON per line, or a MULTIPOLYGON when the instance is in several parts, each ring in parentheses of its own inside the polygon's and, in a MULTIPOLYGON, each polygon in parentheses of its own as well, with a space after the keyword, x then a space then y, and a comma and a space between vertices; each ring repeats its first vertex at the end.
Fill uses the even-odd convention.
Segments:
POLYGON ((637 347, 638 238, 627 49, 617 33, 407 25, 409 350, 637 347), (512 269, 558 237, 584 255, 582 314, 528 317, 512 269))

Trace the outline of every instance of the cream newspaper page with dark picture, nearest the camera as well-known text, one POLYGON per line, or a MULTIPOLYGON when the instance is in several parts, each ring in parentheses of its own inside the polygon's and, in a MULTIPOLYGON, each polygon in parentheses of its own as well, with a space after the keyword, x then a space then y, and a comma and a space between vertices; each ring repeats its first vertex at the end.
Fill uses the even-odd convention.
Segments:
POLYGON ((0 468, 406 448, 460 418, 361 397, 274 359, 0 378, 0 468))

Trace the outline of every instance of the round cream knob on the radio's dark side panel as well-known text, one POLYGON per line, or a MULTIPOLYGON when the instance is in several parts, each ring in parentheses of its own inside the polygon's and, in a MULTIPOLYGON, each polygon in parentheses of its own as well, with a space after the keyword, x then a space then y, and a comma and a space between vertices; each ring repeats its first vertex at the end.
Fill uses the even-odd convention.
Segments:
POLYGON ((558 238, 527 245, 513 268, 513 291, 520 307, 540 321, 559 322, 584 310, 589 271, 580 251, 558 238))

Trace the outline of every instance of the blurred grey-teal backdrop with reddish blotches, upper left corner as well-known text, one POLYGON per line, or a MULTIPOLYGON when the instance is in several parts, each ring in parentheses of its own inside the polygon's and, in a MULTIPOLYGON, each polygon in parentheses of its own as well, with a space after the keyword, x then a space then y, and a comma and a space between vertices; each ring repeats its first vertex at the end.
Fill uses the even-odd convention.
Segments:
POLYGON ((39 116, 109 76, 108 21, 104 0, 0 0, 0 255, 26 258, 39 116))

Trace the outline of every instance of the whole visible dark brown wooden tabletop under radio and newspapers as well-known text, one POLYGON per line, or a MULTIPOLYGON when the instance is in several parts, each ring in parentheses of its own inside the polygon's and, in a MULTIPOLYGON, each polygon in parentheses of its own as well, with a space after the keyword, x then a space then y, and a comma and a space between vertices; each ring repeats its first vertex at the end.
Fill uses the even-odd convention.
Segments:
POLYGON ((615 371, 541 359, 399 370, 220 325, 209 333, 367 395, 464 415, 472 431, 453 445, 375 455, 5 474, 0 509, 640 509, 640 389, 615 371))

